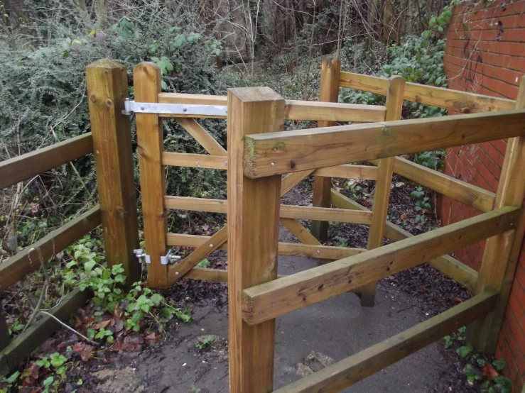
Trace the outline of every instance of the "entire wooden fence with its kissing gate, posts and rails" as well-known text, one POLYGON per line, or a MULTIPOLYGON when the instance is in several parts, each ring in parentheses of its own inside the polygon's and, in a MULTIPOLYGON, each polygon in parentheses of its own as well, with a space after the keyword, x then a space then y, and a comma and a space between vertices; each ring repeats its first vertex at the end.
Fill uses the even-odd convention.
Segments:
MULTIPOLYGON (((494 349, 525 226, 521 215, 525 184, 516 181, 524 178, 525 170, 525 82, 519 99, 511 101, 419 86, 401 77, 341 72, 337 60, 325 59, 320 101, 311 102, 285 100, 268 88, 230 89, 227 96, 162 93, 160 69, 148 62, 134 67, 133 79, 138 103, 227 108, 227 115, 222 116, 137 112, 136 126, 144 237, 151 260, 148 284, 167 288, 182 277, 228 282, 231 392, 272 390, 276 316, 348 291, 359 293, 362 305, 372 306, 377 280, 423 262, 465 285, 475 297, 279 392, 337 391, 475 320, 471 331, 477 348, 494 349), (386 104, 339 104, 334 101, 340 87, 385 94, 386 104), (401 121, 401 107, 407 99, 462 114, 401 121), (208 154, 164 151, 162 121, 166 117, 175 118, 208 154), (227 118, 227 149, 195 121, 202 117, 227 118), (282 131, 286 119, 318 121, 319 128, 282 131), (335 126, 337 122, 352 124, 335 126), (496 194, 396 157, 501 138, 511 139, 496 194), (373 165, 352 164, 362 161, 373 165), (228 200, 166 195, 166 166, 227 170, 228 200), (386 221, 394 172, 481 214, 411 236, 386 221), (281 179, 283 174, 287 175, 281 179), (309 176, 314 176, 313 206, 281 205, 281 196, 309 176), (375 180, 372 209, 332 189, 332 177, 375 180), (227 213, 228 224, 210 237, 169 233, 166 209, 227 213), (312 220, 312 232, 298 219, 312 220), (279 221, 301 244, 278 241, 279 221), (367 249, 323 245, 328 221, 369 226, 367 249), (392 243, 381 246, 385 237, 392 243), (484 239, 479 273, 448 255, 484 239), (163 264, 173 246, 195 250, 178 263, 163 264), (228 250, 229 270, 195 267, 218 249, 228 250), (278 255, 320 258, 323 265, 278 277, 278 255)), ((92 136, 75 140, 77 153, 71 148, 61 150, 67 153, 63 160, 56 161, 54 154, 48 156, 53 160, 41 158, 45 152, 30 153, 25 162, 31 165, 22 165, 25 172, 21 174, 14 173, 21 168, 19 163, 0 163, 0 170, 11 168, 11 179, 2 179, 0 185, 7 187, 94 151, 100 207, 87 213, 91 221, 84 217, 68 225, 83 234, 102 222, 109 264, 123 263, 129 279, 134 280, 139 264, 133 255, 138 237, 131 134, 129 120, 120 113, 128 91, 126 70, 101 60, 87 68, 87 85, 92 136)), ((55 148, 64 149, 62 145, 55 148)), ((70 231, 58 231, 40 240, 39 246, 48 250, 46 258, 58 251, 53 241, 60 239, 65 247, 75 240, 70 231)), ((23 253, 0 265, 0 289, 37 267, 32 251, 23 253)))

